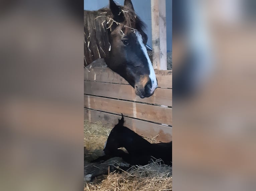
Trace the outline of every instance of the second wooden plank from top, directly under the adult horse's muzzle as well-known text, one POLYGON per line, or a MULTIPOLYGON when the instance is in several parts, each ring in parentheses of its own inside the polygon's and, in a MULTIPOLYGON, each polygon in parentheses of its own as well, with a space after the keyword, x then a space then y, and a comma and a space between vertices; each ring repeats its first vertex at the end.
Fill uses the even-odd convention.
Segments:
POLYGON ((134 89, 129 85, 85 81, 84 93, 159 105, 172 105, 171 89, 157 88, 152 96, 142 99, 135 94, 134 89))

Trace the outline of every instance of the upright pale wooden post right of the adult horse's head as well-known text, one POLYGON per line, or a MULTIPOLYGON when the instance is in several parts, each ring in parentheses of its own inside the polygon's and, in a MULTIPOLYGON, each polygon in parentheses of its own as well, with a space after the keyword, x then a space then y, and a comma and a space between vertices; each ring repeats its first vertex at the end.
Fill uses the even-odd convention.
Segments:
POLYGON ((166 2, 151 0, 153 68, 167 70, 166 2))

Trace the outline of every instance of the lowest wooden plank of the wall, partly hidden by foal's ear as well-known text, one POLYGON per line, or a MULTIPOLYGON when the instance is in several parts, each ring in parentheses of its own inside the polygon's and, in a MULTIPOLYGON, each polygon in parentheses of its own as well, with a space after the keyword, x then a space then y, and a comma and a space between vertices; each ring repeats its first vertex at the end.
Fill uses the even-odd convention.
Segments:
MULTIPOLYGON (((100 111, 94 111, 91 109, 85 109, 84 118, 85 120, 89 120, 90 122, 101 121, 103 125, 114 127, 118 123, 118 119, 120 119, 121 116, 100 111)), ((124 125, 144 137, 155 137, 156 140, 162 142, 169 142, 172 140, 172 127, 150 123, 138 119, 132 119, 128 117, 125 117, 124 125)))

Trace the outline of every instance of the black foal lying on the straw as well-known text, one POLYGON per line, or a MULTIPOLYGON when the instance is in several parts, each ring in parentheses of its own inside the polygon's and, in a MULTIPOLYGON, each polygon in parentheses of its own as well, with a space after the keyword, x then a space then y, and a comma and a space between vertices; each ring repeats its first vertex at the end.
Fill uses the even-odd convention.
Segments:
POLYGON ((104 152, 106 155, 94 162, 105 161, 111 157, 122 157, 131 165, 145 165, 150 159, 162 159, 165 164, 172 165, 172 141, 168 143, 150 143, 133 130, 123 126, 124 116, 111 130, 104 152), (119 149, 124 147, 128 153, 119 149))

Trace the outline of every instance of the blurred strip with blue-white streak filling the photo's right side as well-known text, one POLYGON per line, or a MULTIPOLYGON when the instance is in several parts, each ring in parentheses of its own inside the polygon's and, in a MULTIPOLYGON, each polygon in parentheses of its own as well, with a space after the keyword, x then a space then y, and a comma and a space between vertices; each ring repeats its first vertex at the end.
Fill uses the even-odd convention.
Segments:
POLYGON ((255 1, 172 1, 173 190, 255 190, 255 1))

